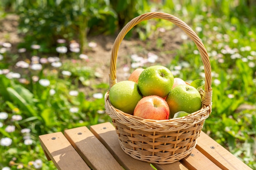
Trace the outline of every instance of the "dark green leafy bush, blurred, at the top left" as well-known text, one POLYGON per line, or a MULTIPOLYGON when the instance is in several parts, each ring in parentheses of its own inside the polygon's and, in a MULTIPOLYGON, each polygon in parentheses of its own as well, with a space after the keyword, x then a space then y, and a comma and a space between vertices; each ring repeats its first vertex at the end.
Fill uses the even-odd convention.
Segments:
POLYGON ((44 52, 52 52, 58 38, 79 39, 81 49, 85 49, 90 29, 97 33, 113 33, 117 20, 115 11, 105 0, 61 0, 17 2, 20 15, 20 30, 25 34, 25 42, 20 46, 40 44, 44 52))

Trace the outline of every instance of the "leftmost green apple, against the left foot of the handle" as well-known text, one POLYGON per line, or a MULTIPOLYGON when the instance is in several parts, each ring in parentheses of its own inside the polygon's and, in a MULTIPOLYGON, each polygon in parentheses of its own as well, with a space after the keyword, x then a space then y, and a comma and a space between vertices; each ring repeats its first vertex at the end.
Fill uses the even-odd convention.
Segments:
POLYGON ((110 88, 109 99, 112 106, 132 115, 135 106, 142 99, 142 95, 139 93, 138 84, 126 80, 118 82, 110 88))

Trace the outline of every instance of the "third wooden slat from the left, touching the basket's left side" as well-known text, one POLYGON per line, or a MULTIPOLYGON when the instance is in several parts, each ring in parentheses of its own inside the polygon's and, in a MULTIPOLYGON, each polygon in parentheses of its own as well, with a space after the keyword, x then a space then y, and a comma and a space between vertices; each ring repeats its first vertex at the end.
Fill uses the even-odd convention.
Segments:
POLYGON ((125 170, 153 170, 149 163, 134 159, 121 149, 115 128, 109 122, 93 125, 90 130, 125 170))

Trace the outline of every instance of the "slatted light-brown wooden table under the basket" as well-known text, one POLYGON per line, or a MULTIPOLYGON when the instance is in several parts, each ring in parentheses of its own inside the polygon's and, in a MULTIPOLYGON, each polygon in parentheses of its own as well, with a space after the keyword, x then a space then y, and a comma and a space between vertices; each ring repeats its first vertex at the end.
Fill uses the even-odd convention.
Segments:
POLYGON ((119 146, 114 126, 97 124, 39 136, 58 170, 252 170, 204 132, 191 155, 158 165, 133 159, 119 146), (153 167, 152 167, 153 166, 153 167))

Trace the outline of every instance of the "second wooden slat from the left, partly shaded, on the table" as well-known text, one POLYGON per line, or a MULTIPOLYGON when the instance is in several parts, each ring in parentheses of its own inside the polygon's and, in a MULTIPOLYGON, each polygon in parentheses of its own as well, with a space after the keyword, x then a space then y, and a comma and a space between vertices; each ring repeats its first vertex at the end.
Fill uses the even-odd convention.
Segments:
POLYGON ((93 170, 124 170, 87 127, 65 130, 64 135, 93 170))

